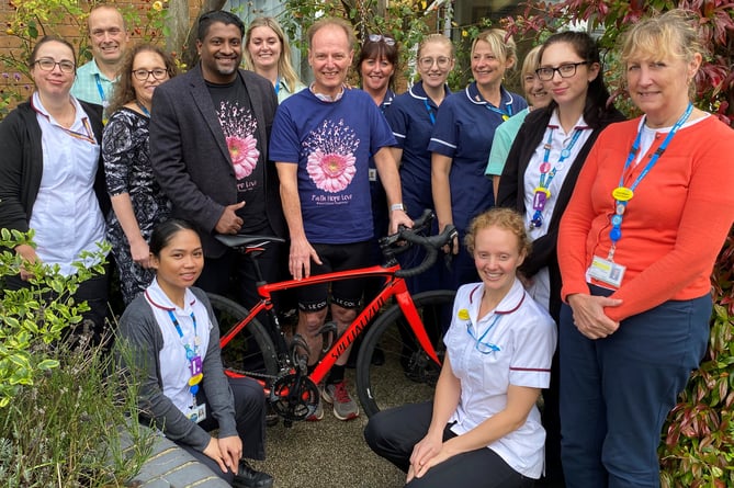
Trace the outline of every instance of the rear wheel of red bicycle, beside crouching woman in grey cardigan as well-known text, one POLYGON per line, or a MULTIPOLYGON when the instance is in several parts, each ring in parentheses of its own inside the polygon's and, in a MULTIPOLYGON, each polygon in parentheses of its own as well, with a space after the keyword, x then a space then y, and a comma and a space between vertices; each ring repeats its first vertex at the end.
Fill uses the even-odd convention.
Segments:
MULTIPOLYGON (((249 310, 237 302, 213 293, 207 293, 207 296, 219 324, 219 336, 249 315, 249 310)), ((222 349, 222 363, 225 370, 244 372, 256 378, 263 375, 273 377, 279 370, 275 345, 264 326, 255 317, 222 349)))

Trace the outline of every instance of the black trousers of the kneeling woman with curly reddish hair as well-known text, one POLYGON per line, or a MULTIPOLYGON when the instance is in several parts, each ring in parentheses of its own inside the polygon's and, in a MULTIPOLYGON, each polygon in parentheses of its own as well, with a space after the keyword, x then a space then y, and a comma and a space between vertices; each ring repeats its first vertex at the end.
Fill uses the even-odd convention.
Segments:
MULTIPOLYGON (((364 439, 372 451, 403 472, 410 466, 413 447, 426 436, 433 404, 410 404, 384 410, 370 418, 364 439)), ((443 441, 456 436, 450 424, 443 441)), ((482 447, 458 454, 414 478, 406 488, 527 488, 534 479, 522 476, 490 449, 482 447)))

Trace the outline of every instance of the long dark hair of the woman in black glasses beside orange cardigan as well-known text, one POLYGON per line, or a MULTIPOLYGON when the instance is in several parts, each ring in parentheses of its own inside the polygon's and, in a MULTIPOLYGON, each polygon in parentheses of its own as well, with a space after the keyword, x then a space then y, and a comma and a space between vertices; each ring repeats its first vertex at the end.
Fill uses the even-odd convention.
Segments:
MULTIPOLYGON (((599 57, 599 47, 597 46, 596 41, 591 38, 585 32, 561 32, 550 36, 540 48, 538 54, 538 63, 542 63, 543 53, 545 48, 551 44, 556 43, 567 43, 569 44, 576 54, 587 61, 589 65, 594 63, 599 64, 599 73, 597 77, 589 83, 589 88, 586 92, 586 105, 584 106, 584 121, 591 128, 598 128, 601 125, 601 122, 609 117, 611 113, 616 112, 614 105, 611 103, 609 90, 605 86, 603 80, 603 66, 601 66, 601 59, 599 57)), ((551 103, 545 107, 549 113, 553 112, 558 104, 555 100, 551 100, 551 103)))

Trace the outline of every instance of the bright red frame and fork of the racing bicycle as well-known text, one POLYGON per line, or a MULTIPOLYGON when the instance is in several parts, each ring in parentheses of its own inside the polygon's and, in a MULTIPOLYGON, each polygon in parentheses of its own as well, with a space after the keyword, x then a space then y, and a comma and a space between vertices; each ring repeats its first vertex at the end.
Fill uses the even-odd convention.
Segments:
POLYGON ((410 293, 405 283, 405 280, 398 276, 395 276, 395 272, 400 270, 399 264, 393 264, 387 268, 382 265, 374 265, 369 268, 361 268, 357 270, 347 270, 347 271, 337 271, 331 273, 318 274, 315 276, 308 276, 303 280, 289 280, 278 283, 266 283, 258 286, 258 293, 261 296, 260 302, 258 302, 249 315, 235 325, 226 334, 224 334, 219 340, 219 345, 222 348, 226 347, 229 341, 235 338, 247 325, 261 311, 272 310, 274 305, 272 302, 272 293, 296 288, 301 286, 315 285, 320 283, 328 283, 334 281, 342 280, 352 280, 355 277, 371 277, 371 276, 385 276, 385 284, 380 291, 377 296, 375 296, 362 311, 352 320, 350 326, 345 330, 345 332, 339 337, 339 339, 331 344, 329 350, 326 352, 324 358, 318 362, 314 372, 309 375, 309 378, 318 384, 320 383, 328 372, 331 370, 337 360, 349 349, 349 347, 354 342, 354 340, 365 330, 370 321, 377 315, 382 306, 391 298, 395 297, 398 306, 405 314, 405 317, 408 320, 410 329, 416 334, 416 339, 420 347, 426 351, 428 356, 433 360, 437 364, 440 364, 440 360, 433 345, 431 344, 430 338, 426 332, 426 329, 422 326, 421 319, 418 316, 418 310, 413 303, 410 293))

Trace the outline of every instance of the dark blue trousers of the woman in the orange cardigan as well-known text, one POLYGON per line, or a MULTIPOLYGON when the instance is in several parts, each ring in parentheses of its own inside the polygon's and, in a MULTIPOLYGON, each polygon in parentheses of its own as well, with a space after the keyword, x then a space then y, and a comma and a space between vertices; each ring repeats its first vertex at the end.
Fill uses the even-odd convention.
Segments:
MULTIPOLYGON (((609 291, 591 286, 595 295, 609 291)), ((568 488, 657 488, 663 423, 709 339, 711 297, 668 300, 591 340, 561 309, 561 430, 568 488)))

